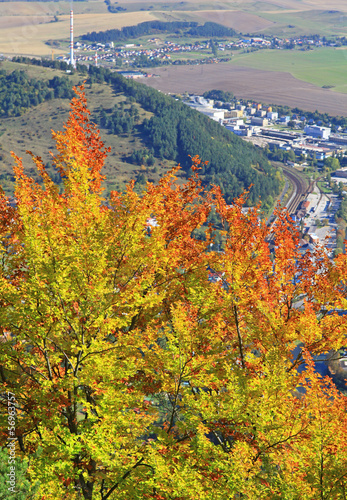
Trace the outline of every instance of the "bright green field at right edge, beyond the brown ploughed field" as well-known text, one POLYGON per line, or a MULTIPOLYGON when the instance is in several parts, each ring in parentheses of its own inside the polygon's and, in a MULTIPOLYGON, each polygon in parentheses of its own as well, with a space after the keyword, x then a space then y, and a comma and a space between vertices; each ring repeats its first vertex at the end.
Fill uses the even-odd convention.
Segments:
POLYGON ((331 86, 347 93, 346 48, 319 47, 314 50, 259 50, 234 53, 231 64, 267 71, 284 71, 318 87, 331 86))

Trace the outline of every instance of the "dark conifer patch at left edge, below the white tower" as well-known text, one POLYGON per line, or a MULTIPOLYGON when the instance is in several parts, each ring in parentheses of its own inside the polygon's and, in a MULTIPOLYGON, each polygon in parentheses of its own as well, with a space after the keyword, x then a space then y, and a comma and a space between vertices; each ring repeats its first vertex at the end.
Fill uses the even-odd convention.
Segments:
POLYGON ((0 116, 19 116, 26 109, 55 97, 71 99, 73 91, 67 78, 35 80, 23 70, 0 70, 0 116))

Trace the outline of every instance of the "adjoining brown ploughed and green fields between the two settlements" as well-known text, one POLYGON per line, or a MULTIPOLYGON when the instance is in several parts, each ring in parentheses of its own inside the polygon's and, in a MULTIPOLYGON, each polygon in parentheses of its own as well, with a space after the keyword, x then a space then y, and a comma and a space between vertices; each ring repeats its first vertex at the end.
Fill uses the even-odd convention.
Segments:
POLYGON ((159 78, 145 83, 163 92, 217 88, 268 104, 347 116, 347 47, 234 52, 227 64, 156 68, 154 73, 159 78))

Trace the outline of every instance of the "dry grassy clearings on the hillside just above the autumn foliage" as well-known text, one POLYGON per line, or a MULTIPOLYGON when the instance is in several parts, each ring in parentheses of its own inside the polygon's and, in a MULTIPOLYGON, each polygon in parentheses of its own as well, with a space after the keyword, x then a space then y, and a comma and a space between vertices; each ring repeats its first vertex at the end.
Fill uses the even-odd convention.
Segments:
MULTIPOLYGON (((20 69, 26 65, 3 63, 2 67, 6 69, 20 69)), ((32 77, 52 78, 55 74, 62 75, 57 70, 29 66, 29 72, 32 77)), ((76 84, 79 77, 72 78, 71 83, 76 84)), ((93 84, 92 88, 86 86, 86 96, 88 106, 91 110, 91 118, 101 107, 112 108, 123 96, 116 96, 111 88, 104 84, 93 84)), ((29 109, 25 114, 15 118, 0 119, 0 183, 7 193, 13 190, 13 184, 8 181, 12 174, 13 159, 11 151, 18 156, 23 157, 24 165, 30 175, 35 174, 35 169, 28 155, 27 150, 32 150, 35 155, 41 156, 44 162, 49 162, 51 156, 49 151, 54 151, 54 142, 51 137, 51 130, 62 130, 63 123, 66 122, 69 113, 69 101, 67 99, 53 99, 44 102, 35 108, 29 109)), ((141 120, 149 118, 150 113, 139 107, 141 120)), ((131 165, 124 161, 124 157, 129 156, 134 150, 145 147, 141 137, 127 137, 125 135, 109 135, 106 130, 101 129, 101 137, 106 146, 111 147, 111 152, 105 163, 104 173, 107 175, 107 189, 122 189, 124 183, 130 179, 136 179, 141 171, 145 173, 149 180, 157 181, 172 162, 158 161, 153 167, 147 169, 137 165, 131 165), (153 171, 156 167, 156 172, 153 171)))

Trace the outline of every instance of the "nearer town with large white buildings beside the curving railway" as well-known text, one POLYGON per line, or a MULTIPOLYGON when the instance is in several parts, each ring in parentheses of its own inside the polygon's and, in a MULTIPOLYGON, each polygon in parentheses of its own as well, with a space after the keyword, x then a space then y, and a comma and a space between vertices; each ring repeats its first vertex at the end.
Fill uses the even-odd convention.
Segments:
MULTIPOLYGON (((279 115, 271 106, 262 104, 220 103, 198 95, 184 96, 183 102, 268 152, 283 151, 287 166, 293 170, 302 172, 310 170, 312 165, 316 167, 304 199, 292 209, 292 217, 303 236, 307 236, 300 242, 302 251, 311 250, 318 243, 324 245, 332 258, 337 250, 337 214, 342 197, 347 194, 347 168, 340 167, 338 160, 347 150, 347 133, 342 130, 332 133, 331 128, 321 126, 319 121, 306 120, 305 116, 279 115), (220 108, 221 105, 226 108, 220 108), (336 192, 329 193, 328 189, 323 192, 322 185, 327 187, 327 182, 322 179, 326 175, 335 184, 336 192), (315 180, 320 180, 321 187, 315 180)), ((291 198, 285 204, 288 208, 290 201, 291 198)))

